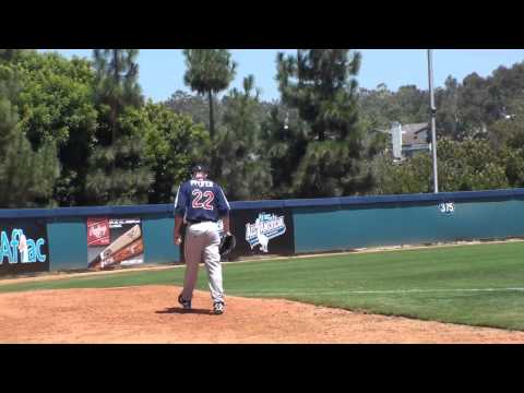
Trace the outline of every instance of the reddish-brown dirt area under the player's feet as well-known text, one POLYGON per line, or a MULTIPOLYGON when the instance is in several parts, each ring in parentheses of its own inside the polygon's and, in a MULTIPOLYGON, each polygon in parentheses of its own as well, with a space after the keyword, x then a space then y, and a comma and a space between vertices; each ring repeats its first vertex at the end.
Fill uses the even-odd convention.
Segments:
POLYGON ((193 310, 176 286, 60 289, 0 295, 0 343, 524 343, 524 332, 471 327, 227 297, 211 314, 207 293, 193 310))

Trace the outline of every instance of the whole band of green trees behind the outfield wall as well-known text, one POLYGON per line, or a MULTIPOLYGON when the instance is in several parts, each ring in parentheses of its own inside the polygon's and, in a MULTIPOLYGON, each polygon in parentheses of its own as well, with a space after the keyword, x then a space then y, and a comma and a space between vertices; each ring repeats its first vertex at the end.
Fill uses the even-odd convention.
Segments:
MULTIPOLYGON (((143 102, 136 50, 93 55, 0 49, 1 207, 168 203, 202 160, 231 200, 432 192, 431 154, 393 164, 380 132, 429 120, 428 92, 357 90, 349 49, 279 53, 273 103, 252 76, 217 99, 224 49, 184 51, 195 94, 165 103, 143 102)), ((436 104, 440 190, 524 187, 524 62, 450 76, 436 104)))

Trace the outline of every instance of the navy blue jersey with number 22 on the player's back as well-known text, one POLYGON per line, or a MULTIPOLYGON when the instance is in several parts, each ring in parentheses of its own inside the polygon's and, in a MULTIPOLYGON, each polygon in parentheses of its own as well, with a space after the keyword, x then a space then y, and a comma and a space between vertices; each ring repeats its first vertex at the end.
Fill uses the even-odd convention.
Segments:
POLYGON ((178 188, 175 199, 175 214, 184 215, 188 222, 216 223, 229 209, 222 187, 212 180, 188 180, 178 188))

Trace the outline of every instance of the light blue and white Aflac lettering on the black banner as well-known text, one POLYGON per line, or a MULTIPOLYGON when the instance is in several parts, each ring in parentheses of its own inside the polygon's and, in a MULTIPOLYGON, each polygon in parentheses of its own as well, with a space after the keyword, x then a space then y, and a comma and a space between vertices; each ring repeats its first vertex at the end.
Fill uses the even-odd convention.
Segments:
POLYGON ((22 229, 14 228, 11 231, 11 238, 5 230, 2 230, 0 240, 1 263, 4 262, 4 259, 9 263, 46 262, 47 257, 45 253, 41 253, 41 247, 46 242, 43 238, 36 240, 27 239, 22 229))

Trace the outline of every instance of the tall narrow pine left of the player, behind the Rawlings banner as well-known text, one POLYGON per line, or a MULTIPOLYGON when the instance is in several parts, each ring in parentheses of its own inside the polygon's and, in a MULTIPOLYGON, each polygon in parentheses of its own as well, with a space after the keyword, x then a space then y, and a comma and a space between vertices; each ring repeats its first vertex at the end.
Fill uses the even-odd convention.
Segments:
POLYGON ((153 181, 141 110, 135 49, 95 49, 97 146, 90 157, 86 195, 90 204, 146 203, 153 181))

